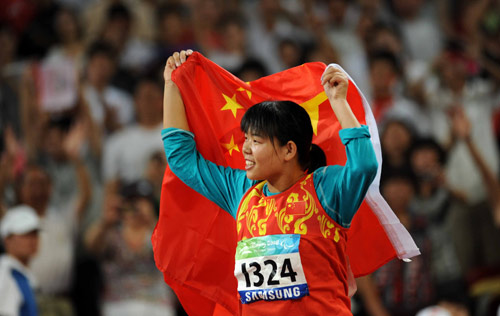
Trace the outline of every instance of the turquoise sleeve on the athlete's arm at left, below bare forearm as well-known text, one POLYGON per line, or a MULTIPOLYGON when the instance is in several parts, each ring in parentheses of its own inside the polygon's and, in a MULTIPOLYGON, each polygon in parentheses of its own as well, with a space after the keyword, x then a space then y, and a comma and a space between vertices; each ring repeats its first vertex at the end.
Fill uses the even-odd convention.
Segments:
POLYGON ((187 186, 236 218, 241 198, 254 184, 246 172, 204 159, 191 132, 167 128, 161 136, 170 170, 187 186))

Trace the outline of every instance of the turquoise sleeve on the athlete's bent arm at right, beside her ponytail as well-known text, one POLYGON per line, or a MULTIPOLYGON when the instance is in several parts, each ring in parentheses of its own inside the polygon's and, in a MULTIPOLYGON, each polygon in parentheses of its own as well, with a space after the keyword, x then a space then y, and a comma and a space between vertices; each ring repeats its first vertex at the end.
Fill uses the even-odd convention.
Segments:
POLYGON ((378 163, 367 126, 342 129, 339 134, 345 145, 346 164, 319 168, 313 177, 325 211, 348 228, 377 174, 378 163))

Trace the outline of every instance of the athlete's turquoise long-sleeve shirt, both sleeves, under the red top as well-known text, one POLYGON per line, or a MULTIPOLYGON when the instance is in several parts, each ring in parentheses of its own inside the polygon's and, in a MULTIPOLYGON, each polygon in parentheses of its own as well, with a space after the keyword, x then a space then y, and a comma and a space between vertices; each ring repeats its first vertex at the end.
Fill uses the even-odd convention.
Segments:
MULTIPOLYGON (((348 228, 375 178, 378 164, 367 126, 342 129, 339 134, 346 148, 346 164, 318 168, 313 180, 323 209, 335 222, 348 228)), ((245 170, 218 166, 204 159, 191 132, 167 128, 161 135, 172 172, 236 218, 241 199, 257 181, 248 179, 245 170)), ((267 184, 263 190, 266 196, 273 195, 267 184)))

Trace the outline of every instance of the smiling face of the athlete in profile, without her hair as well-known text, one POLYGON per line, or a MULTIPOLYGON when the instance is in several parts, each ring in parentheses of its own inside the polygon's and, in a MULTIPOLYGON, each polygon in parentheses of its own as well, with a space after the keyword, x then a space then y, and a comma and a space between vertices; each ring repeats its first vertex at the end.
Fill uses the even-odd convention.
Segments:
POLYGON ((252 132, 245 133, 243 156, 247 177, 251 180, 272 182, 282 170, 284 147, 269 137, 252 132))

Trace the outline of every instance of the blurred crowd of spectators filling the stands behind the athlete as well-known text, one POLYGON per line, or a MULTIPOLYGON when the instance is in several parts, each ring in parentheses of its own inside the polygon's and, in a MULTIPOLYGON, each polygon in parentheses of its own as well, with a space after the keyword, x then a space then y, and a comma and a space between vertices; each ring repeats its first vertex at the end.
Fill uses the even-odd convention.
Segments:
POLYGON ((187 48, 243 81, 335 62, 365 94, 422 255, 359 278, 354 315, 499 315, 500 1, 3 0, 0 216, 40 218, 40 315, 183 314, 150 236, 162 71, 187 48))

